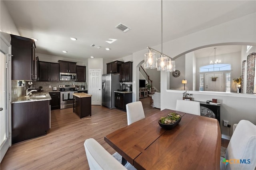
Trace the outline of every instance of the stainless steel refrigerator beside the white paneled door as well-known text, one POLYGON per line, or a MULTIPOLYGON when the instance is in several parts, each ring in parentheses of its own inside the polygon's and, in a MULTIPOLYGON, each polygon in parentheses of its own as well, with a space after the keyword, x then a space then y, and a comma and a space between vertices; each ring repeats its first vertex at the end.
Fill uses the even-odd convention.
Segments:
POLYGON ((102 75, 102 106, 110 109, 115 107, 115 92, 120 89, 119 74, 102 75))

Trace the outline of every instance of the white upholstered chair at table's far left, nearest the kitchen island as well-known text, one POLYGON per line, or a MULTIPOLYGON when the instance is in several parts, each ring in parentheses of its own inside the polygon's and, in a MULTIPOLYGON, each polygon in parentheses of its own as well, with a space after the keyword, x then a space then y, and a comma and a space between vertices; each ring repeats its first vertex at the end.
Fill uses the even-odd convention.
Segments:
POLYGON ((140 119, 145 118, 144 110, 141 101, 128 103, 126 105, 127 124, 130 125, 140 119))

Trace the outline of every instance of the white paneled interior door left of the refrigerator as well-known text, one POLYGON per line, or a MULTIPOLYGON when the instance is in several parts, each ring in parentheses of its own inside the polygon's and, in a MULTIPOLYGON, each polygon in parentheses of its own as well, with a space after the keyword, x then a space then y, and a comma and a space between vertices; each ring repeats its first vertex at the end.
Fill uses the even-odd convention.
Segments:
POLYGON ((101 79, 102 73, 101 69, 90 69, 90 94, 92 95, 92 105, 101 105, 101 79))

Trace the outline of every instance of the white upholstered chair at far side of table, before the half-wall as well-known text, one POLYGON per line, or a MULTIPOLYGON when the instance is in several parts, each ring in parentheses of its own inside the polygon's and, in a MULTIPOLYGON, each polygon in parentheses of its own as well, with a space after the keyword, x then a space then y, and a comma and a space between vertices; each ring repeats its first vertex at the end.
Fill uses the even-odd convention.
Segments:
POLYGON ((177 100, 176 111, 190 113, 193 115, 201 115, 200 113, 200 102, 188 101, 188 100, 177 100))

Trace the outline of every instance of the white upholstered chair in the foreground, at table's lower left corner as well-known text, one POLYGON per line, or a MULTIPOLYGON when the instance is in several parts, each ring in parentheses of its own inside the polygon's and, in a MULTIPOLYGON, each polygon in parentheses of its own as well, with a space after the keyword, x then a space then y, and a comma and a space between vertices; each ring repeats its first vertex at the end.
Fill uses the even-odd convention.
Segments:
POLYGON ((130 163, 123 166, 94 138, 86 139, 84 148, 90 170, 136 170, 130 163))

